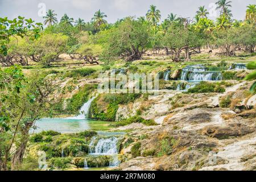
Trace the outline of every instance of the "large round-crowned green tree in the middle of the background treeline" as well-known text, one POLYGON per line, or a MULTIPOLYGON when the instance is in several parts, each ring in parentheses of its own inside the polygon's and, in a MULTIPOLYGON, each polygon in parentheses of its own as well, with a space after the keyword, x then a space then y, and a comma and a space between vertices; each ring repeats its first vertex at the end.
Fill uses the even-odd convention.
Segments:
POLYGON ((148 27, 131 18, 127 18, 118 28, 109 30, 106 37, 108 39, 102 47, 106 47, 103 57, 107 60, 139 60, 150 47, 148 27))

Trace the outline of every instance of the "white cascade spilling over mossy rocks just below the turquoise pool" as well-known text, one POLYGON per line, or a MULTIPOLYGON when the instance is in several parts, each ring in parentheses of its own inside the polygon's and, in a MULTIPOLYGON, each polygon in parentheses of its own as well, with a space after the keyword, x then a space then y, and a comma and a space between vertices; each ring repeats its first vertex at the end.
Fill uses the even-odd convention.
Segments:
POLYGON ((118 138, 116 137, 101 138, 99 140, 93 137, 89 144, 89 155, 109 155, 112 158, 109 162, 109 166, 116 167, 120 163, 118 160, 117 143, 118 138))

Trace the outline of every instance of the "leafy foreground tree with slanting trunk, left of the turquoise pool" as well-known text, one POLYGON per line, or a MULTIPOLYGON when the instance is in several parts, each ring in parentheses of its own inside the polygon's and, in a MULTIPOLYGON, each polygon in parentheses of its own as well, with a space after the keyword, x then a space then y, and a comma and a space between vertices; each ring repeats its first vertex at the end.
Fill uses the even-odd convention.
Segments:
POLYGON ((22 163, 28 132, 55 103, 52 93, 57 88, 54 77, 38 71, 24 76, 17 66, 0 69, 0 171, 15 170, 22 163))

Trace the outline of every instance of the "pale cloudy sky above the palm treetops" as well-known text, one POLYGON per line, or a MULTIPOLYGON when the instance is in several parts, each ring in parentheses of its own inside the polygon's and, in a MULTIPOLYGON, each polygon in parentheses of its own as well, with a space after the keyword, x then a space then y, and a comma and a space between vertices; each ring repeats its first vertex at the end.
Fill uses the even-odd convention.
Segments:
MULTIPOLYGON (((214 2, 217 0, 0 0, 0 17, 7 16, 10 19, 18 15, 32 18, 36 22, 43 22, 42 13, 46 10, 55 10, 58 20, 64 13, 69 17, 84 19, 86 22, 92 19, 93 14, 100 9, 108 15, 108 22, 113 23, 117 19, 126 16, 144 16, 150 5, 155 5, 161 11, 162 20, 170 13, 185 18, 192 18, 199 6, 205 6, 210 11, 210 19, 216 19, 214 15, 214 2)), ((227 0, 229 1, 229 0, 227 0)), ((234 19, 245 19, 246 6, 256 4, 256 0, 233 0, 232 14, 234 19)), ((218 15, 219 13, 217 13, 218 15)))

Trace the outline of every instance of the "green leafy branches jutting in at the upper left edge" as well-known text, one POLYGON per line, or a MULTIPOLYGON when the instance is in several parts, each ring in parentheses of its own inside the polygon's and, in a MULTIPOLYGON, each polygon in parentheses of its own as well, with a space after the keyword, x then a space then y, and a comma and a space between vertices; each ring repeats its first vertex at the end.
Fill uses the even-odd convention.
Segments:
POLYGON ((23 38, 27 36, 31 39, 38 39, 39 33, 43 29, 42 23, 34 23, 30 19, 25 19, 22 16, 18 16, 13 20, 6 18, 0 18, 0 55, 2 57, 7 56, 8 46, 11 37, 20 36, 23 38))

